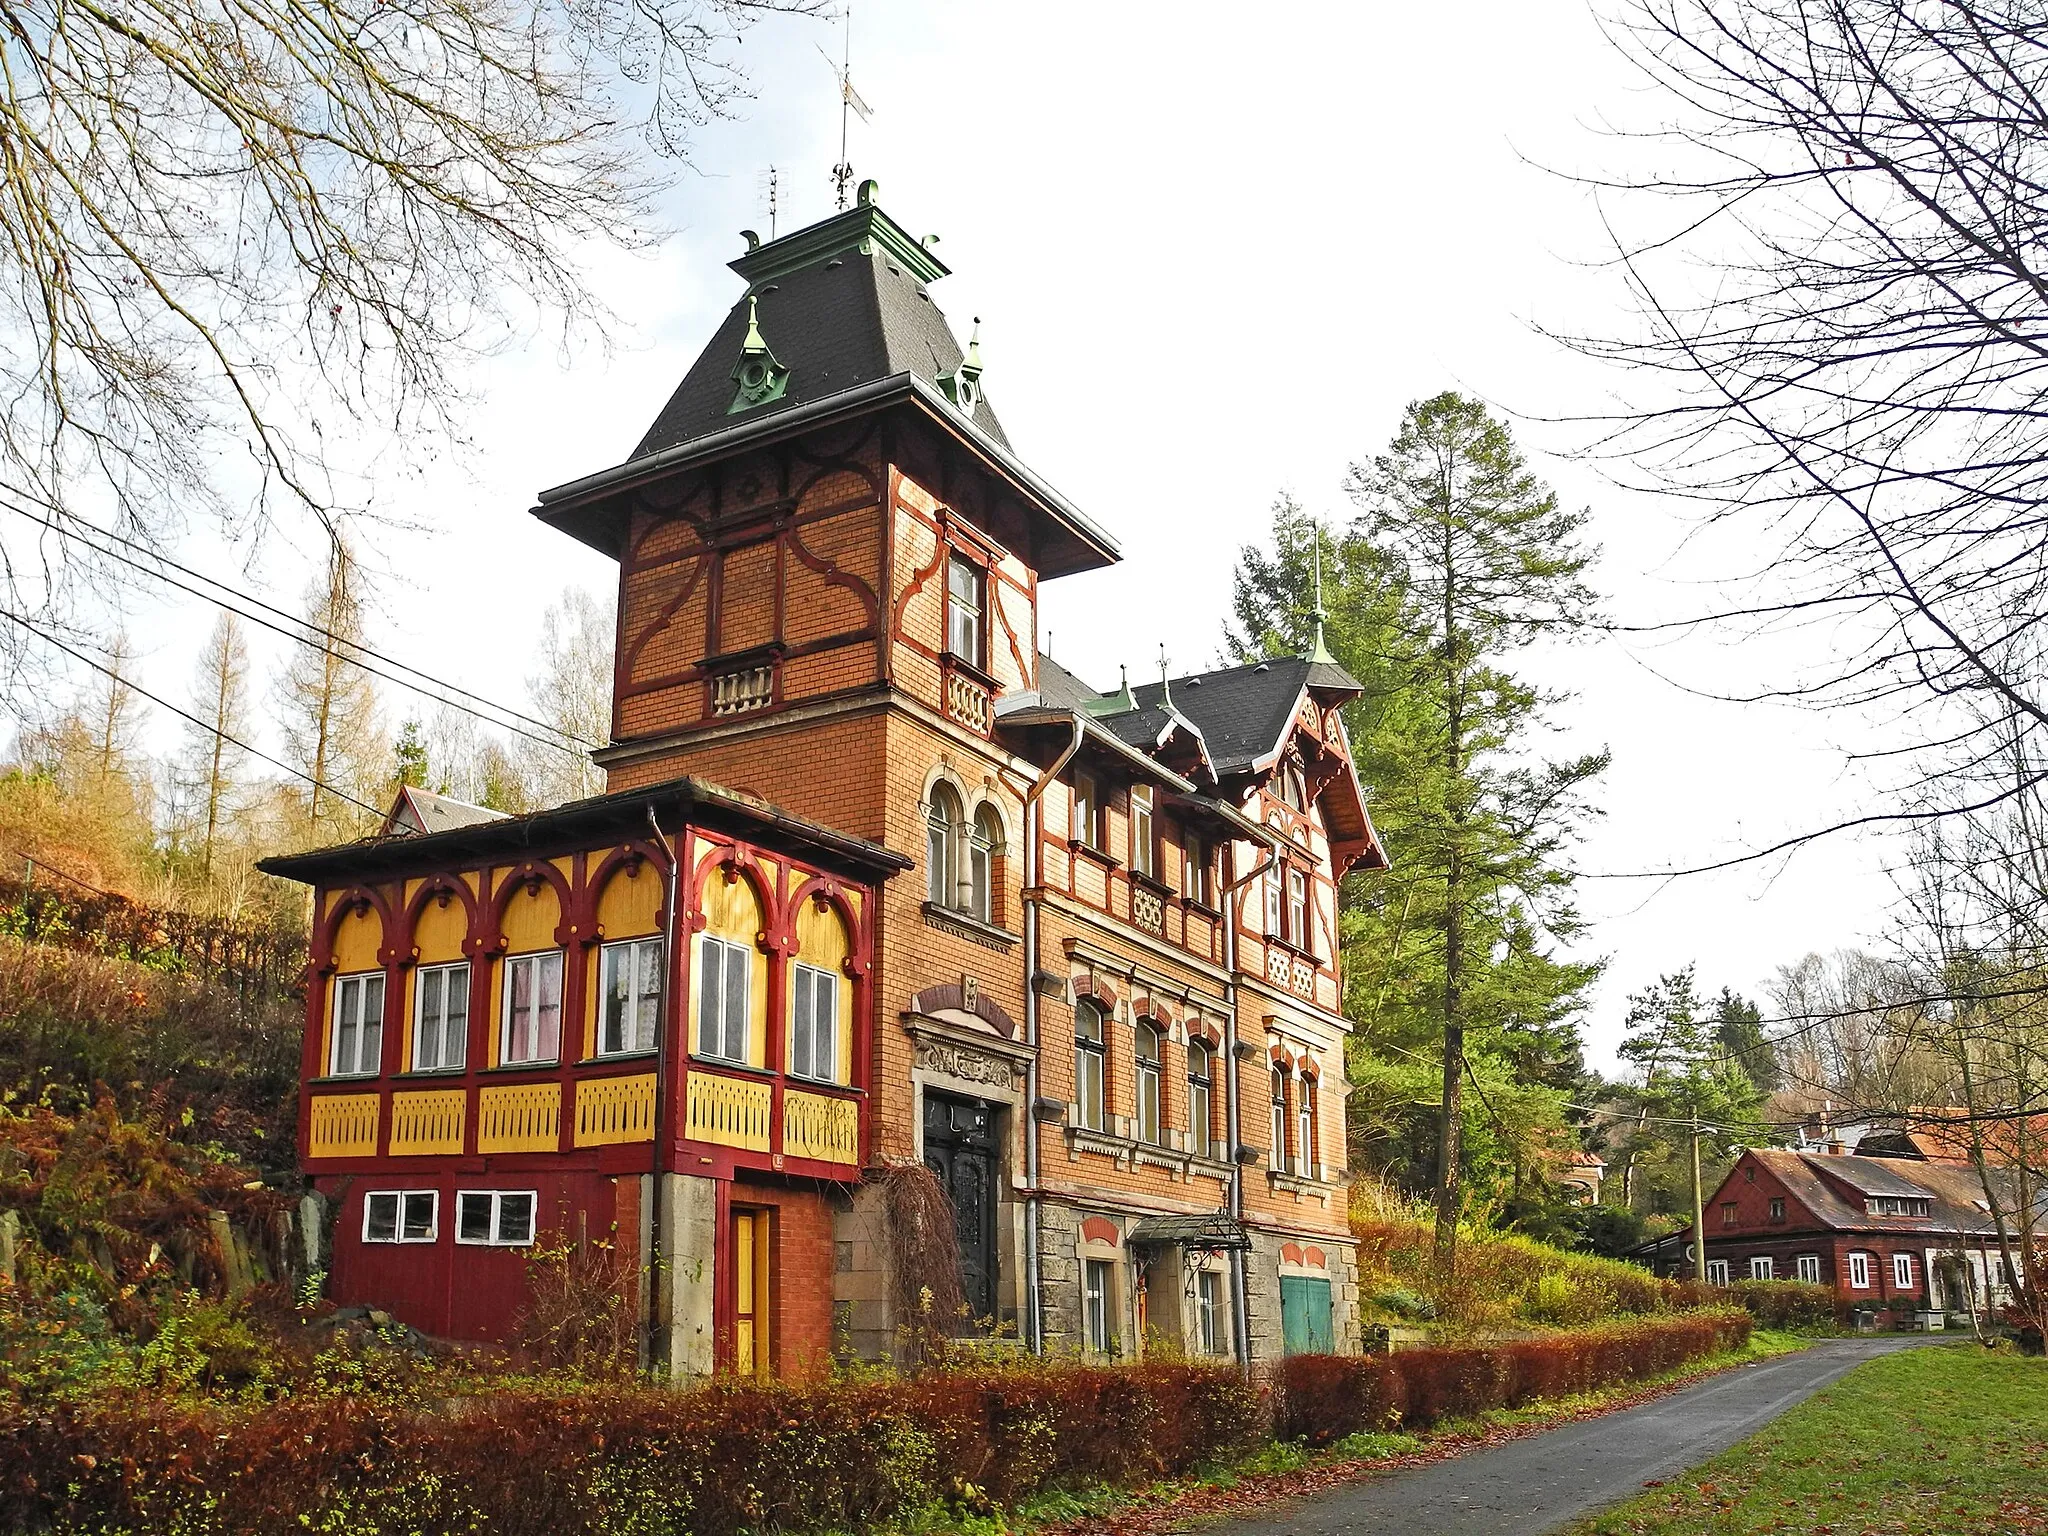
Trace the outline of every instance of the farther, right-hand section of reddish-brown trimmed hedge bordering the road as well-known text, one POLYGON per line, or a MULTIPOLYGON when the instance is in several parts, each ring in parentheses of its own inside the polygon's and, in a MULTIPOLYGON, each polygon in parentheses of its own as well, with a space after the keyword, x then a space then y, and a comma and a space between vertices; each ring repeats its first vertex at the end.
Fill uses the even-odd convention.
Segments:
POLYGON ((1366 1430, 1427 1430, 1657 1376, 1745 1343, 1749 1329, 1749 1313, 1712 1311, 1487 1350, 1294 1356, 1280 1366, 1278 1427, 1311 1446, 1366 1430))

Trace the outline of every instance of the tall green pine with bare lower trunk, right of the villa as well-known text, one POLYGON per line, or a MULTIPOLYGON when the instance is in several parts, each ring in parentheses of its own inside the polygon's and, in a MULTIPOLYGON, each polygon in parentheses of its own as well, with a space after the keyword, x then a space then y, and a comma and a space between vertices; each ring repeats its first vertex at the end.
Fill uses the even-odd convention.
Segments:
MULTIPOLYGON (((1360 506, 1358 535, 1399 578, 1399 655, 1432 739, 1401 784, 1409 803, 1399 860, 1409 913, 1438 961, 1436 1247, 1450 1266, 1464 1208, 1466 1034, 1479 1006, 1499 1001, 1475 983, 1528 991, 1524 1022, 1554 1034, 1593 975, 1550 961, 1542 934, 1577 930, 1561 854, 1585 811, 1581 791, 1608 758, 1530 760, 1528 735, 1554 694, 1503 666, 1536 635, 1589 618, 1593 594, 1581 578, 1591 551, 1579 547, 1585 514, 1561 508, 1507 428, 1456 393, 1409 406, 1391 449, 1354 467, 1348 489, 1360 506), (1475 944, 1487 909, 1507 944, 1503 961, 1475 944)), ((1550 1051, 1556 1040, 1538 1044, 1550 1051)))

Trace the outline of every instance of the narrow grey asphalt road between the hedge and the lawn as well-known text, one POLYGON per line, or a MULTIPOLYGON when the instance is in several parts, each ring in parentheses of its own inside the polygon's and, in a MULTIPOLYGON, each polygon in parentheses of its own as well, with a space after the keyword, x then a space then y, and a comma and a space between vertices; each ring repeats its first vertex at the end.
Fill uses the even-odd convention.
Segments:
POLYGON ((1823 1339, 1671 1397, 1413 1473, 1274 1505, 1204 1536, 1544 1536, 1718 1456, 1872 1356, 1925 1337, 1823 1339))

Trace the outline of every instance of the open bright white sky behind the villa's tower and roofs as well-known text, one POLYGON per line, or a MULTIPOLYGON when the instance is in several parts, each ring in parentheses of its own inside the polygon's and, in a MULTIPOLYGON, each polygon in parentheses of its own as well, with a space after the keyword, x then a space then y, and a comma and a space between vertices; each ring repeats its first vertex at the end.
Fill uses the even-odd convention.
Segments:
MULTIPOLYGON (((780 168, 780 231, 831 211, 840 115, 819 47, 838 55, 836 27, 748 37, 756 100, 702 133, 698 174, 668 199, 676 233, 594 266, 625 322, 614 346, 565 352, 543 336, 494 360, 471 381, 473 453, 379 487, 430 530, 377 551, 387 651, 518 702, 530 655, 494 616, 537 618, 565 584, 610 584, 606 561, 526 508, 631 451, 741 291, 725 262, 741 227, 766 233, 766 166, 780 168), (494 655, 483 633, 514 639, 494 655)), ((1530 164, 1612 168, 1620 147, 1593 125, 1655 109, 1585 0, 868 0, 852 74, 874 106, 872 125, 854 123, 854 168, 911 231, 944 238, 954 276, 936 297, 963 338, 983 317, 983 383, 1012 442, 1122 541, 1122 565, 1044 594, 1055 655, 1087 678, 1112 684, 1120 659, 1147 676, 1161 641, 1176 670, 1212 662, 1237 545, 1264 532, 1274 494, 1346 516, 1346 465, 1386 444, 1409 399, 1458 387, 1554 418, 1628 387, 1532 330, 1630 326, 1618 285, 1585 266, 1602 250, 1593 205, 1530 164)), ((1710 600, 1671 508, 1552 457, 1583 432, 1518 432, 1538 471, 1591 506, 1616 616, 1710 600)), ((205 541, 186 557, 233 563, 205 541)), ((252 590, 295 606, 303 582, 287 541, 258 551, 252 590)), ((182 698, 211 621, 201 606, 137 612, 143 684, 182 698)), ((1583 868, 1702 862, 1858 809, 1829 723, 1704 702, 1649 670, 1731 688, 1798 659, 1726 637, 1530 657, 1540 682, 1579 694, 1556 752, 1614 750, 1583 868)), ((1780 963, 1870 936, 1888 893, 1880 852, 1845 840, 1788 868, 1585 883, 1585 948, 1610 956, 1589 1057, 1610 1063, 1624 993, 1659 971, 1698 961, 1708 989, 1753 991, 1780 963)))

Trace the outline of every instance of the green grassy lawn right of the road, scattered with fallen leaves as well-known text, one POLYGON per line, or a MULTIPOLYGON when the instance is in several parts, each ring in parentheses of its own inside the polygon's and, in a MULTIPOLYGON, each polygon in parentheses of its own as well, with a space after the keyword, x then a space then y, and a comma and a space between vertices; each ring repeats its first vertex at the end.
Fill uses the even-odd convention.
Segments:
POLYGON ((2048 1362, 1976 1343, 1858 1366, 1575 1536, 2048 1532, 2048 1362))

